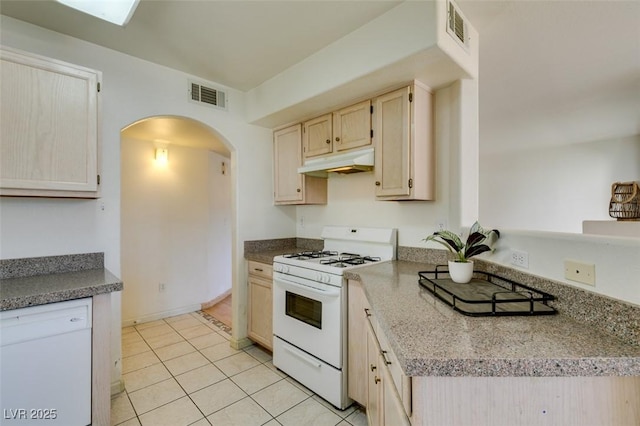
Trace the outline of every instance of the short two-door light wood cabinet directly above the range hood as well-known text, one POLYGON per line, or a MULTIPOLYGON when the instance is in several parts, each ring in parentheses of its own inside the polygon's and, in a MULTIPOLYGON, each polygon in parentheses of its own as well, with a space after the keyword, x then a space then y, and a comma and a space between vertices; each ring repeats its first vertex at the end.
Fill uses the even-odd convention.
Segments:
POLYGON ((303 124, 304 157, 371 145, 371 101, 342 108, 303 124))

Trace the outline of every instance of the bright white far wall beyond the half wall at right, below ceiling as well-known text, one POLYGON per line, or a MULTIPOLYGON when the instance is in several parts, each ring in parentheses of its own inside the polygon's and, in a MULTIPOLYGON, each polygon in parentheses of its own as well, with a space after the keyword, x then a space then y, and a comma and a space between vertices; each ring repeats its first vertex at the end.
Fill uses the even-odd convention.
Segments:
POLYGON ((640 135, 500 151, 482 141, 480 217, 504 228, 580 233, 583 220, 612 220, 613 182, 640 179, 640 135))

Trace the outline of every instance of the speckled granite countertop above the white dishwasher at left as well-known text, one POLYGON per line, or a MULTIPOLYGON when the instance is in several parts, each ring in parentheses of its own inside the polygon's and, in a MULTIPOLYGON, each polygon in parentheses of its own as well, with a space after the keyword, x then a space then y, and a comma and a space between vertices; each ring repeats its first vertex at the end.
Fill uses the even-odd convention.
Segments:
POLYGON ((9 278, 0 280, 0 311, 91 297, 122 287, 122 281, 104 268, 9 278))

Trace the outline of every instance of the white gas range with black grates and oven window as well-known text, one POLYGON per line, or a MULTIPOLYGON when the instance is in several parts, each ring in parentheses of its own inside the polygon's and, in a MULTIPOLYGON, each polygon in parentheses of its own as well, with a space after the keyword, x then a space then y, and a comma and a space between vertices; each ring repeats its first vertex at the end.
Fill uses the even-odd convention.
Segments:
POLYGON ((328 226, 321 251, 273 259, 273 364, 344 409, 347 291, 344 271, 395 259, 389 228, 328 226))

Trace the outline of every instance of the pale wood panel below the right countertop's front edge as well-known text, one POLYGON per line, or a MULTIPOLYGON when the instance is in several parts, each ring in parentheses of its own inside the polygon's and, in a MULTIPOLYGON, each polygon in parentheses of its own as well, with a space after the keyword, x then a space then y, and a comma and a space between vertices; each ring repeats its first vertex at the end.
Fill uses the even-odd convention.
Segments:
POLYGON ((640 424, 638 376, 414 377, 413 398, 414 425, 640 424))

